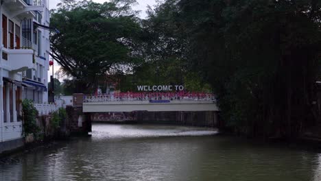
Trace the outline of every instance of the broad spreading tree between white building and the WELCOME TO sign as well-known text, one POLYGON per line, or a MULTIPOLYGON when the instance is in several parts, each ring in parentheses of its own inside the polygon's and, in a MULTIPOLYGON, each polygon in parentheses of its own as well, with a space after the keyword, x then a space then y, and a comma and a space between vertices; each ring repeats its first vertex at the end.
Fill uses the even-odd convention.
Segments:
POLYGON ((95 80, 105 77, 113 66, 139 62, 135 50, 141 28, 130 9, 134 2, 62 1, 51 14, 51 26, 59 29, 50 37, 51 56, 61 72, 77 83, 75 91, 93 92, 95 80))

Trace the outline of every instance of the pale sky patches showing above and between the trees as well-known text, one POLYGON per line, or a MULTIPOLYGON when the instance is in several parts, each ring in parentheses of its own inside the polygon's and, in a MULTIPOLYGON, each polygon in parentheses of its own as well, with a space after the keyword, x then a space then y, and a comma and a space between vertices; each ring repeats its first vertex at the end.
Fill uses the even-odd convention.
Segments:
MULTIPOLYGON (((93 0, 94 2, 97 3, 104 3, 106 2, 106 0, 93 0)), ((140 10, 140 16, 141 18, 145 18, 146 13, 145 10, 147 10, 147 6, 150 5, 151 7, 153 7, 154 5, 156 5, 156 0, 136 0, 137 1, 137 5, 135 5, 134 7, 132 7, 133 10, 140 10)), ((49 0, 49 9, 55 9, 57 8, 57 4, 60 2, 60 0, 49 0)), ((49 72, 48 72, 48 82, 50 82, 50 75, 52 75, 52 66, 50 66, 49 68, 49 72)), ((54 67, 53 67, 53 71, 56 73, 56 71, 58 71, 60 68, 60 66, 58 65, 58 63, 55 61, 54 62, 54 67)), ((55 76, 56 77, 56 76, 55 76)), ((62 80, 60 79, 60 82, 62 82, 62 80)))

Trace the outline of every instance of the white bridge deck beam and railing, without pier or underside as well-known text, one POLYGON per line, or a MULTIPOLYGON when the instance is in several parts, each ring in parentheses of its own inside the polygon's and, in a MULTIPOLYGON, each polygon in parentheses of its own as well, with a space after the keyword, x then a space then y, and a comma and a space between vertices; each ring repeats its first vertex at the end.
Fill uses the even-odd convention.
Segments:
POLYGON ((215 96, 205 93, 120 93, 84 96, 83 112, 218 111, 215 96))

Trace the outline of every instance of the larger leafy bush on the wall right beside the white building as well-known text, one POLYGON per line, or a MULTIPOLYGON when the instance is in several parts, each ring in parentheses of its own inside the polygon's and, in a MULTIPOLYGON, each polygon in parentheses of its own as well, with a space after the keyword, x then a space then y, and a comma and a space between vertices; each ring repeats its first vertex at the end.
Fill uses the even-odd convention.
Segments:
POLYGON ((38 111, 34 107, 32 100, 24 99, 22 101, 23 108, 23 136, 27 136, 28 134, 34 134, 34 136, 38 136, 40 133, 40 128, 36 124, 36 116, 38 115, 38 111))

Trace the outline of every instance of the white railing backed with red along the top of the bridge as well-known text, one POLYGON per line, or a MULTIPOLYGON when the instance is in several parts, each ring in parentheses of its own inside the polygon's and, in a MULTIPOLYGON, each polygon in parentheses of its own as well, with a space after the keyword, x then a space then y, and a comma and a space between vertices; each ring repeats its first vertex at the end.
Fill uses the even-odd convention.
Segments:
POLYGON ((215 96, 208 93, 118 93, 113 95, 85 95, 86 102, 108 101, 215 101, 215 96))

